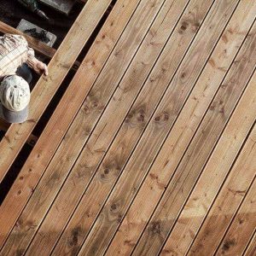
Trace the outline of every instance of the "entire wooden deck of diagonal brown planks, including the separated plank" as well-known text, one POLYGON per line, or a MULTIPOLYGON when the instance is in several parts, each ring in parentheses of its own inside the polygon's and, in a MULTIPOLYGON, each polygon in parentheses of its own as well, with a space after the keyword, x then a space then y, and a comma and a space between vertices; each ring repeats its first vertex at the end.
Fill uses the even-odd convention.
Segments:
POLYGON ((0 255, 256 255, 255 1, 117 0, 33 137, 111 2, 44 49, 29 120, 5 126, 0 181, 36 144, 0 207, 0 255))

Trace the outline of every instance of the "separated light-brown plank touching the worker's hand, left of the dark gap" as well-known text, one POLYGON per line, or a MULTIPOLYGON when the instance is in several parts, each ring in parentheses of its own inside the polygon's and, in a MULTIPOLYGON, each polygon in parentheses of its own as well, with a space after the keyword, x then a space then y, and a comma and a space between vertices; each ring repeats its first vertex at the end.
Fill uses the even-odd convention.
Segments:
MULTIPOLYGON (((84 44, 86 44, 98 21, 108 8, 109 3, 111 3, 111 0, 89 0, 86 3, 61 46, 56 51, 55 56, 49 62, 49 76, 42 76, 32 90, 28 120, 23 124, 11 125, 5 137, 3 137, 0 142, 0 151, 4 151, 4 154, 0 156, 0 182, 8 172, 20 149, 26 143, 27 137, 37 125, 38 119, 44 113, 45 108, 47 108, 69 69, 73 66, 84 44)), ((0 245, 2 244, 2 237, 0 237, 0 245)))

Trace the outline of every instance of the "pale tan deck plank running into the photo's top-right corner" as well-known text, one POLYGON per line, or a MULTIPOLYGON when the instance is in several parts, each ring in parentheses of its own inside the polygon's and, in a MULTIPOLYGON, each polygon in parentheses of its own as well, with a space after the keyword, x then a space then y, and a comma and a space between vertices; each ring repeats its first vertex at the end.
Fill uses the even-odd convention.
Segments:
MULTIPOLYGON (((165 189, 166 183, 168 179, 170 179, 173 170, 175 170, 178 160, 182 157, 191 137, 193 137, 197 125, 200 124, 206 106, 212 101, 212 96, 214 96, 218 84, 223 79, 224 71, 228 69, 230 62, 233 59, 233 55, 236 55, 237 47, 241 44, 245 37, 245 31, 248 30, 250 22, 253 20, 253 11, 248 14, 248 16, 241 15, 241 11, 244 12, 244 4, 245 2, 243 2, 241 8, 237 9, 234 17, 230 21, 230 25, 224 32, 223 37, 228 38, 228 40, 221 40, 213 52, 204 73, 202 73, 201 78, 196 84, 195 92, 192 92, 192 95, 189 97, 188 103, 177 119, 177 124, 174 125, 173 132, 171 132, 171 135, 167 140, 168 143, 166 143, 166 146, 162 149, 162 152, 165 152, 165 154, 161 154, 158 160, 156 160, 151 175, 148 176, 144 182, 144 189, 140 196, 140 200, 137 200, 137 203, 135 203, 134 206, 131 206, 131 211, 128 212, 119 232, 116 234, 116 237, 113 239, 113 242, 108 249, 108 255, 113 255, 114 253, 126 254, 131 251, 132 247, 134 247, 137 241, 137 236, 139 236, 137 233, 139 233, 140 230, 143 230, 145 221, 146 214, 144 215, 144 210, 141 207, 145 200, 144 195, 147 195, 147 197, 150 198, 152 204, 150 203, 149 206, 147 204, 147 207, 149 210, 152 210, 154 201, 157 202, 159 200, 159 193, 165 189), (242 20, 244 20, 244 23, 242 20), (237 21, 241 22, 241 27, 237 27, 237 21), (230 29, 233 29, 234 27, 237 27, 236 35, 229 32, 230 29), (226 49, 229 49, 229 55, 224 54, 226 49), (215 63, 214 66, 212 66, 212 62, 215 63), (212 76, 212 74, 214 75, 212 76), (211 86, 208 86, 208 84, 211 84, 211 86), (172 150, 170 148, 172 148, 172 150), (169 170, 171 173, 169 173, 169 170), (152 177, 158 178, 154 179, 152 177), (159 188, 160 184, 162 186, 159 188), (140 209, 141 218, 137 216, 137 209, 140 209)), ((236 72, 237 71, 235 70, 234 73, 236 72)), ((145 207, 145 212, 148 211, 147 207, 145 207)))

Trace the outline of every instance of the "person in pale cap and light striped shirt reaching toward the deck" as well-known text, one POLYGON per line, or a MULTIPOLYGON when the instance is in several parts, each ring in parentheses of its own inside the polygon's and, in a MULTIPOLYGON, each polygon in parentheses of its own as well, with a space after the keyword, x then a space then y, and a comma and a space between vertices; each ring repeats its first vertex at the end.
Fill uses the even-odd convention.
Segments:
POLYGON ((0 118, 23 123, 28 117, 32 68, 48 75, 48 67, 35 57, 26 38, 5 34, 0 37, 0 118))

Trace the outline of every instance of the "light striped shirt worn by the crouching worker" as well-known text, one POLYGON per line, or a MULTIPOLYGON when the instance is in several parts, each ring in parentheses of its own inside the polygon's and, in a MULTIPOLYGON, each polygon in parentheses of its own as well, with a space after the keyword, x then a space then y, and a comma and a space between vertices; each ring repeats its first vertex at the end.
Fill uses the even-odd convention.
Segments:
POLYGON ((0 79, 15 74, 22 63, 36 70, 36 62, 34 50, 24 37, 10 34, 0 37, 0 79))

